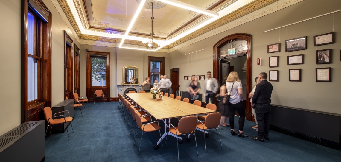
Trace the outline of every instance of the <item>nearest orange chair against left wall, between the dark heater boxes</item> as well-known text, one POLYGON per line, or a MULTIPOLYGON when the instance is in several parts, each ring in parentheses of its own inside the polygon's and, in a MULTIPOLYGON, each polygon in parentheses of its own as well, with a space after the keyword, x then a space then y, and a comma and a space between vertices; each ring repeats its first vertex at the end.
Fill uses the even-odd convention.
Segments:
MULTIPOLYGON (((62 112, 66 112, 66 111, 62 111, 62 112)), ((51 108, 50 108, 50 107, 45 107, 45 108, 44 108, 45 120, 47 121, 47 128, 48 128, 48 126, 51 126, 51 130, 52 130, 52 126, 53 126, 53 125, 65 123, 66 131, 68 131, 68 137, 69 137, 69 140, 70 140, 68 125, 66 124, 66 122, 70 122, 72 131, 73 131, 73 127, 72 127, 73 118, 70 117, 69 111, 67 111, 68 114, 69 114, 69 117, 65 117, 64 115, 58 115, 58 116, 56 116, 56 114, 62 113, 62 112, 57 112, 57 113, 55 113, 55 114, 52 116, 52 110, 51 110, 51 108), (54 119, 54 118, 57 118, 57 117, 63 117, 63 118, 54 119)), ((46 136, 46 133, 47 133, 47 128, 46 128, 45 136, 46 136)), ((51 134, 51 130, 50 130, 50 134, 51 134)), ((73 131, 73 132, 74 132, 74 131, 73 131)))

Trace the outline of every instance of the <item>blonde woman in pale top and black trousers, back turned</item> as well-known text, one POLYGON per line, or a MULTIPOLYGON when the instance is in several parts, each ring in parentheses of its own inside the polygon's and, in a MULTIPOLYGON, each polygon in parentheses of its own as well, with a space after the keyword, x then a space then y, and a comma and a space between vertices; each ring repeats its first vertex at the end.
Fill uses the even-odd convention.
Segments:
POLYGON ((226 89, 227 93, 230 95, 230 102, 228 103, 228 111, 229 111, 229 117, 228 121, 230 123, 231 127, 231 134, 236 135, 238 134, 239 137, 248 137, 248 135, 244 134, 244 122, 245 122, 245 109, 243 104, 243 87, 241 83, 239 82, 238 73, 235 71, 232 71, 228 74, 226 79, 226 89), (230 93, 231 92, 231 93, 230 93), (238 112, 239 114, 239 132, 237 133, 234 129, 234 116, 235 112, 238 112))

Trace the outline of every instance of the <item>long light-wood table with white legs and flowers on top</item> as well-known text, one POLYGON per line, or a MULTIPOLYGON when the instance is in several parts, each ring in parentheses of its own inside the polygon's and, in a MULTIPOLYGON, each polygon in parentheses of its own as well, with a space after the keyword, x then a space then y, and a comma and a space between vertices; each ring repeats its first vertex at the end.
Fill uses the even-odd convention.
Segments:
POLYGON ((204 107, 196 106, 167 96, 162 96, 163 100, 157 101, 153 99, 153 94, 151 93, 126 93, 125 95, 131 98, 134 103, 142 107, 143 110, 147 111, 148 114, 153 116, 153 118, 164 122, 164 133, 158 141, 158 144, 167 135, 176 137, 172 133, 167 133, 167 119, 170 123, 171 118, 216 112, 214 110, 206 109, 204 107))

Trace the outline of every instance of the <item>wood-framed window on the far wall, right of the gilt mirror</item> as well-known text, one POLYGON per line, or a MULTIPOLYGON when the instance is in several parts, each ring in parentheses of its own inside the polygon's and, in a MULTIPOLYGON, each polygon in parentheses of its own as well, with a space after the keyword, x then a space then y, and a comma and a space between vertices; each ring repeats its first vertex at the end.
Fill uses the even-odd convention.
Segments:
POLYGON ((160 82, 160 75, 165 74, 165 58, 148 56, 148 62, 148 76, 150 76, 150 82, 154 83, 155 79, 160 82))

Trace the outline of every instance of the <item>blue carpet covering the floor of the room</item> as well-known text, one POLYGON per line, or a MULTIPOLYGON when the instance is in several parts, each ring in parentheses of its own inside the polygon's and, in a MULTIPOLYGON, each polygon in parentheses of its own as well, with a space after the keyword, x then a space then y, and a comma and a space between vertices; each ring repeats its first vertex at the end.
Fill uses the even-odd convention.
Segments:
MULTIPOLYGON (((138 132, 135 146, 130 126, 123 121, 117 109, 118 102, 90 103, 86 105, 81 117, 80 110, 75 109, 75 118, 71 127, 70 141, 68 134, 52 134, 46 138, 46 162, 125 162, 125 161, 177 161, 176 138, 168 136, 165 150, 154 150, 153 145, 159 140, 159 132, 145 133, 142 139, 140 155, 137 155, 141 139, 138 132)), ((172 120, 172 123, 177 123, 172 120)), ((160 121, 160 125, 163 122, 160 121)), ((244 133, 256 136, 251 127, 254 122, 245 121, 244 133)), ((133 128, 135 128, 135 123, 133 128)), ((238 116, 235 117, 235 128, 238 130, 238 116)), ((179 144, 180 161, 341 161, 341 151, 304 141, 285 134, 270 131, 270 141, 265 143, 248 138, 231 136, 229 127, 220 130, 223 148, 220 148, 219 135, 215 130, 210 132, 205 153, 204 134, 196 131, 199 156, 196 154, 194 137, 191 142, 179 144)), ((161 130, 161 134, 163 129, 161 130)), ((163 143, 165 139, 163 140, 163 143)))

